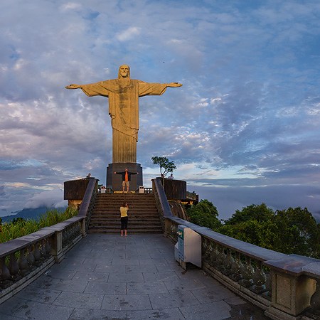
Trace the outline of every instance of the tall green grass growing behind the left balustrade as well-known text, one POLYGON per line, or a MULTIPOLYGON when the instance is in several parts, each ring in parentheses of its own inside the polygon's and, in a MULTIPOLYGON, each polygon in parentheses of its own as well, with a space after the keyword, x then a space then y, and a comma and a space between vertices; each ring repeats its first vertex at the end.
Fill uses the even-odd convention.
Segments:
POLYGON ((20 238, 23 235, 29 235, 41 228, 50 227, 50 225, 55 225, 56 223, 72 218, 77 214, 77 210, 67 208, 62 213, 58 210, 48 210, 45 214, 41 215, 38 220, 15 218, 11 223, 4 223, 3 225, 1 225, 0 220, 0 243, 20 238))

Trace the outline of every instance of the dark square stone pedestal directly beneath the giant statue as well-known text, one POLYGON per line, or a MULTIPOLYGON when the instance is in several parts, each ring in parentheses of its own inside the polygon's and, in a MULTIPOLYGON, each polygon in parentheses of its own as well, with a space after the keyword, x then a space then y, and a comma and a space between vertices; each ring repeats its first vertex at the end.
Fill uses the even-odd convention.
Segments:
MULTIPOLYGON (((107 166, 107 182, 106 182, 107 188, 112 188, 113 191, 122 191, 122 175, 114 174, 114 171, 122 172, 126 168, 130 172, 138 173, 131 176, 129 191, 138 191, 139 186, 143 186, 141 164, 134 164, 134 163, 128 162, 124 164, 122 163, 109 164, 109 166, 107 166)), ((125 190, 127 190, 127 188, 125 190)))

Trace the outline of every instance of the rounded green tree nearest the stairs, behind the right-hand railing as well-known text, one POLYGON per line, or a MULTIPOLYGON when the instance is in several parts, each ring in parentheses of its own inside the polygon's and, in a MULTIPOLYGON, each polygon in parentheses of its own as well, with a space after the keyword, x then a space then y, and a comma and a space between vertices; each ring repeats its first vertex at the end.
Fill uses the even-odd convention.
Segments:
POLYGON ((213 203, 208 200, 201 200, 195 206, 187 209, 187 215, 191 223, 201 225, 213 230, 220 227, 221 223, 218 219, 218 210, 213 203))

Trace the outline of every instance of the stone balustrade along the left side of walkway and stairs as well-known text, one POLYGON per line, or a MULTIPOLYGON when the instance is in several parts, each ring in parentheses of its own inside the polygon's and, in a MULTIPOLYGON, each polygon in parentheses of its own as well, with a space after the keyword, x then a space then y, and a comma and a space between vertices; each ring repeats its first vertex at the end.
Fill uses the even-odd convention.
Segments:
POLYGON ((0 304, 59 263, 87 235, 97 180, 90 179, 77 216, 0 244, 0 304))

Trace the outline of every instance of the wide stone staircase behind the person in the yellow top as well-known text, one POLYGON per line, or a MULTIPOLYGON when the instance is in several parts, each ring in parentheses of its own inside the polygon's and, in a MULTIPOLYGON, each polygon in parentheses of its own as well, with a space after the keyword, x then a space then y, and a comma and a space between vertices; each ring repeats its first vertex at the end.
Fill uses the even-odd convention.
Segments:
POLYGON ((128 233, 163 233, 156 201, 146 193, 98 193, 88 233, 120 233, 120 206, 129 205, 128 233))

